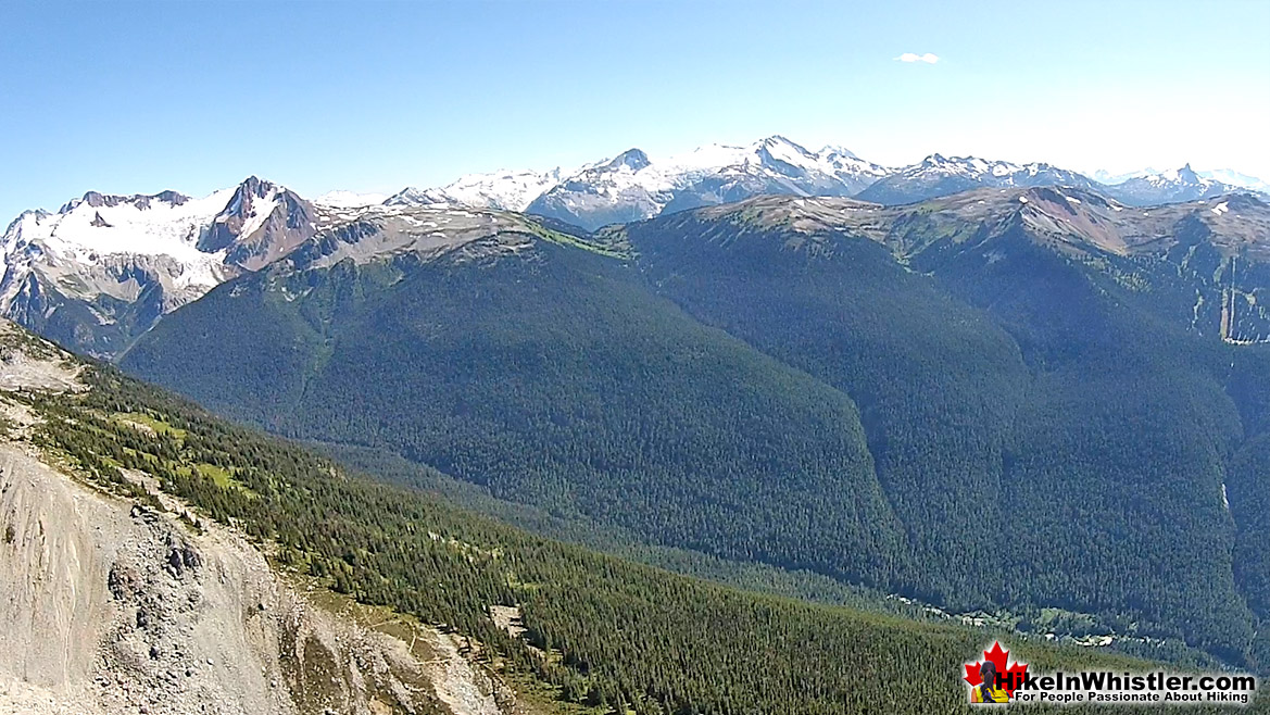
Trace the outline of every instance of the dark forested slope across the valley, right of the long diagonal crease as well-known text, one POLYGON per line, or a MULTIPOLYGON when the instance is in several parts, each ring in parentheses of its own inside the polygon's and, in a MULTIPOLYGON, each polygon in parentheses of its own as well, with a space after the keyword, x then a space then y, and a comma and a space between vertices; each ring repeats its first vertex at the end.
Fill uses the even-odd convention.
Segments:
POLYGON ((856 400, 916 593, 1248 655, 1265 565, 1234 549, 1257 530, 1220 490, 1245 439, 1232 398, 1264 398, 1228 392, 1226 347, 1168 320, 1173 286, 1147 278, 1176 268, 1095 271, 1017 230, 907 265, 865 237, 789 236, 691 215, 622 230, 657 291, 856 400))

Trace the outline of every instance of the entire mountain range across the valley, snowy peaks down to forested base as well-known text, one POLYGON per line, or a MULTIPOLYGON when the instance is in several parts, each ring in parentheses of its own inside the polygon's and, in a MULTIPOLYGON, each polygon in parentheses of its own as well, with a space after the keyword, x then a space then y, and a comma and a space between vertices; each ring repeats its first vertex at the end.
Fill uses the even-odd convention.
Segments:
POLYGON ((1264 667, 1270 203, 1229 188, 771 137, 90 192, 10 225, 0 307, 582 530, 1264 667))

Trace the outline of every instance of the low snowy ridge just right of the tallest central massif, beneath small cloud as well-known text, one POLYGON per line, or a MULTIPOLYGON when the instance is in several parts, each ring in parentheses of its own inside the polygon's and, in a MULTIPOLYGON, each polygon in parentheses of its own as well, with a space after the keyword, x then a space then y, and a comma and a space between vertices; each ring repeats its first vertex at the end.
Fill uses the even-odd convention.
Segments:
POLYGON ((975 188, 1011 187, 1097 188, 1090 178, 1050 164, 1012 164, 974 156, 945 157, 932 154, 918 164, 904 166, 856 194, 862 201, 885 204, 912 203, 975 188))

